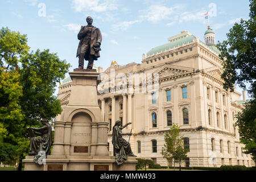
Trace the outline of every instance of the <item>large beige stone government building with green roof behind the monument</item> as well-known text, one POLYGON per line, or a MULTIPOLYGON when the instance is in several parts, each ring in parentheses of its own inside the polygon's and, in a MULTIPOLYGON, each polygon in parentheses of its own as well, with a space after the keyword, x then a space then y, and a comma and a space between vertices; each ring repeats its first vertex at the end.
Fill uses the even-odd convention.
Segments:
MULTIPOLYGON (((122 125, 132 123, 122 130, 132 135, 123 138, 129 140, 138 158, 174 166, 161 151, 164 133, 176 123, 184 136, 184 147, 189 150, 183 166, 255 166, 251 156, 243 154, 243 144, 233 126, 245 93, 241 101, 241 93, 223 89, 219 53, 215 34, 208 26, 203 42, 188 31, 181 31, 168 38, 166 44, 143 53, 141 64, 112 62, 105 71, 95 68, 102 73, 98 104, 102 119, 109 123, 109 154, 113 155, 112 127, 121 120, 122 125), (121 86, 118 80, 122 81, 121 86), (153 89, 147 89, 150 84, 153 89)), ((71 84, 68 77, 59 86, 58 98, 63 108, 69 103, 71 84)))

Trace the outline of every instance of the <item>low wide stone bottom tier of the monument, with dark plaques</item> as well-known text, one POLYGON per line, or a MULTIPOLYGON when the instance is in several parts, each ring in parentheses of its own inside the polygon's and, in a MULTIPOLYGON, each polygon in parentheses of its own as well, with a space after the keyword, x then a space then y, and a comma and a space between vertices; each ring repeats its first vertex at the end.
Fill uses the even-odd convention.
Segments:
POLYGON ((110 159, 46 159, 42 165, 34 162, 34 156, 23 159, 24 171, 135 171, 137 160, 129 156, 120 166, 110 159))

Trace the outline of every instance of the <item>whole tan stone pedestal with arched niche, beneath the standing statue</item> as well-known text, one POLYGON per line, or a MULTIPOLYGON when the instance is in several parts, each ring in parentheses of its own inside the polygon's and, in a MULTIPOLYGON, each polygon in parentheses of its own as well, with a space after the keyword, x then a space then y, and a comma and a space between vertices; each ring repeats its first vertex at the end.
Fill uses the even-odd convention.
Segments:
POLYGON ((59 121, 55 121, 52 153, 41 166, 33 162, 34 156, 27 156, 23 160, 25 170, 135 170, 137 160, 129 158, 123 167, 117 167, 109 156, 108 122, 102 120, 97 98, 99 73, 74 69, 69 75, 71 95, 59 121))

